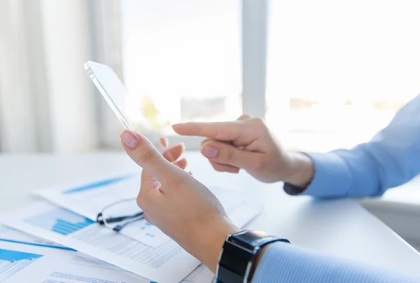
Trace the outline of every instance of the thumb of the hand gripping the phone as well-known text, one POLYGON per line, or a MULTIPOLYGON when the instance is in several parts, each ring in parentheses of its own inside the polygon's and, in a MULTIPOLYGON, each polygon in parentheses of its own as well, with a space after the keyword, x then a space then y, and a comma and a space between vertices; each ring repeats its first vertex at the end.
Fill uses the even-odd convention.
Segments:
POLYGON ((174 165, 163 158, 151 141, 142 134, 124 130, 120 134, 120 140, 128 156, 156 179, 163 179, 173 171, 174 165))

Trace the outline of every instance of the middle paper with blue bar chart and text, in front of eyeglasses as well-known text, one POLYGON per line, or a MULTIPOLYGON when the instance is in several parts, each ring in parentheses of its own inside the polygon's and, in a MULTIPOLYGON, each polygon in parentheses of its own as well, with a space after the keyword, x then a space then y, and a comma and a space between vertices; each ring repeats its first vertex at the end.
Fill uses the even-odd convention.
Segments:
MULTIPOLYGON (((258 207, 251 205, 239 208, 231 214, 239 226, 244 226, 259 212, 258 207)), ((45 200, 1 214, 0 222, 154 282, 181 282, 200 264, 172 240, 150 247, 45 200)))

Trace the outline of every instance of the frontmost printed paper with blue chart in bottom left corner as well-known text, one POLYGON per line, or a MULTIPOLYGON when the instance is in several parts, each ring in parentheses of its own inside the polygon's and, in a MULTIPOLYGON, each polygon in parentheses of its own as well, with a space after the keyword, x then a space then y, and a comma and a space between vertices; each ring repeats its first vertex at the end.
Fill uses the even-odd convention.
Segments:
MULTIPOLYGON (((200 266, 182 282, 210 283, 213 273, 200 266)), ((149 283, 99 259, 18 230, 0 226, 0 282, 149 283)))

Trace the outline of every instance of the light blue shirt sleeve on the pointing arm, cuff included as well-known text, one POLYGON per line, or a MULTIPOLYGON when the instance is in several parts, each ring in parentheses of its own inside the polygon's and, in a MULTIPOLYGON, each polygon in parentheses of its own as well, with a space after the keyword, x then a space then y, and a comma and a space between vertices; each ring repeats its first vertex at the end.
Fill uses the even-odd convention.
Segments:
POLYGON ((358 198, 381 195, 404 184, 420 173, 420 95, 370 142, 309 156, 315 174, 304 195, 358 198))

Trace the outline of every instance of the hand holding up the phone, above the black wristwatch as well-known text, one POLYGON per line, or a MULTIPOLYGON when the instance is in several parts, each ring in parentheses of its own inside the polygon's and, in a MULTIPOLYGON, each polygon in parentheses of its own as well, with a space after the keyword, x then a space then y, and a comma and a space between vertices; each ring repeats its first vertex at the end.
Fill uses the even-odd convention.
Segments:
MULTIPOLYGON (((239 231, 225 209, 206 186, 183 169, 183 146, 160 154, 148 139, 137 132, 120 134, 127 154, 143 168, 137 204, 146 220, 178 242, 213 272, 225 237, 239 231)), ((167 140, 161 139, 167 148, 167 140)))

